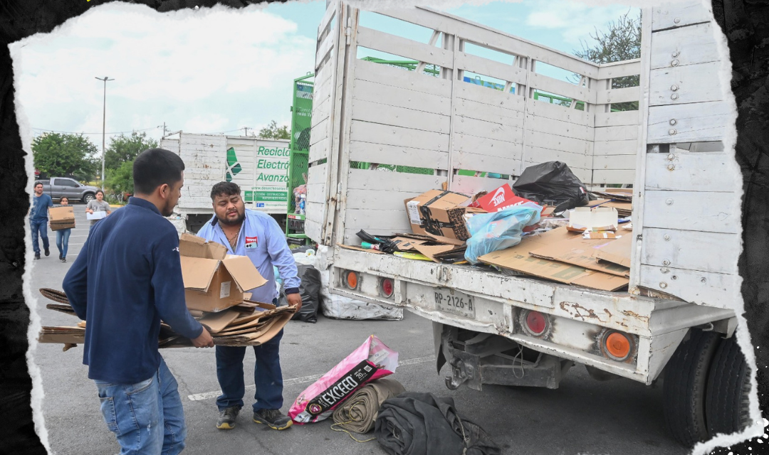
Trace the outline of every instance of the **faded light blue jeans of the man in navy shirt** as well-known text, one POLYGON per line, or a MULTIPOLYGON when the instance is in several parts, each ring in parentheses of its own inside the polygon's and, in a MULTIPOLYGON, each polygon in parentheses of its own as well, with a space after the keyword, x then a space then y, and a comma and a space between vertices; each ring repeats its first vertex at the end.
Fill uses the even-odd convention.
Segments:
POLYGON ((137 384, 94 382, 121 455, 176 455, 184 450, 187 427, 178 384, 162 358, 158 372, 137 384))

